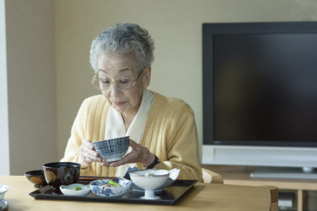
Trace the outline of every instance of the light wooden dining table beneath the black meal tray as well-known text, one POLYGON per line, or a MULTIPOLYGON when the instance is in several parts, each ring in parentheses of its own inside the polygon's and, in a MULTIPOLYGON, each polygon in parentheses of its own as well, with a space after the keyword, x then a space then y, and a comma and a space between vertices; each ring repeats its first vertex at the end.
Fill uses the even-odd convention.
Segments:
POLYGON ((0 184, 9 186, 4 199, 9 210, 79 211, 79 210, 151 210, 175 211, 269 211, 270 193, 263 187, 196 183, 174 205, 143 205, 125 203, 78 202, 34 199, 36 190, 24 176, 0 176, 0 184))

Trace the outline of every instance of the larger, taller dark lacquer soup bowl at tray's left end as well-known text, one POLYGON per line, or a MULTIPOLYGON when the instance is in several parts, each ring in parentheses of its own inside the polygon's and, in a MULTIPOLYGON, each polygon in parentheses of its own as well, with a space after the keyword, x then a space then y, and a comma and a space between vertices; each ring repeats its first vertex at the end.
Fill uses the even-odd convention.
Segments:
POLYGON ((58 190, 61 185, 76 183, 80 174, 80 164, 72 162, 56 162, 43 165, 47 183, 58 190))

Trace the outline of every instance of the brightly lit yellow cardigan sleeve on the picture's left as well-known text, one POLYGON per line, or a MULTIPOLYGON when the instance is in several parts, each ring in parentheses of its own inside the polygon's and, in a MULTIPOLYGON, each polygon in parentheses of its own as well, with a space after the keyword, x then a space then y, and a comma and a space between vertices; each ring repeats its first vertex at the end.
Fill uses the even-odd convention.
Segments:
MULTIPOLYGON (((85 131, 83 127, 83 111, 85 107, 85 101, 80 106, 78 114, 75 118, 73 126, 71 128, 71 135, 68 139, 67 146, 65 149, 64 157, 60 160, 60 162, 75 162, 77 163, 77 159, 79 156, 79 147, 82 144, 82 141, 86 138, 85 131)), ((80 175, 90 175, 91 167, 87 169, 80 169, 80 175)))

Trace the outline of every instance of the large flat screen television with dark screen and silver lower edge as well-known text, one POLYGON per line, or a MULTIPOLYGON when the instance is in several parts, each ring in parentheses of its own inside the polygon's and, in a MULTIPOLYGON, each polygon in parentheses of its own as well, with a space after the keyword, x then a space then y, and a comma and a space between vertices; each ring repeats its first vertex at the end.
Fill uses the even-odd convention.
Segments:
POLYGON ((317 22, 204 23, 203 131, 203 164, 317 178, 317 22))

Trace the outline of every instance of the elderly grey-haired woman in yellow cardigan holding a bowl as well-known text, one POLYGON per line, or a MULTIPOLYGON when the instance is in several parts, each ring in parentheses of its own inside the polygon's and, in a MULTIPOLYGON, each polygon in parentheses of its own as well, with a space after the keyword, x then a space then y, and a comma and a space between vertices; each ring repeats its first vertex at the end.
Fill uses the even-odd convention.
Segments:
POLYGON ((116 24, 90 49, 93 85, 102 94, 82 103, 63 162, 81 164, 81 175, 124 175, 129 167, 180 169, 179 179, 202 180, 194 113, 184 101, 160 95, 151 81, 154 42, 137 24, 116 24), (130 136, 122 160, 105 162, 91 144, 130 136))

